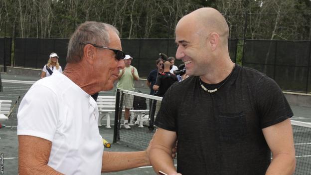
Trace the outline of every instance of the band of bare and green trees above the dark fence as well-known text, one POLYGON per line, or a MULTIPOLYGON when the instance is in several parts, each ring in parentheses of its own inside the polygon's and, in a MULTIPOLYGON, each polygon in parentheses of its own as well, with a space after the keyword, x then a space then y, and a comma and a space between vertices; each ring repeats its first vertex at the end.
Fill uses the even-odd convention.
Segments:
POLYGON ((94 20, 121 38, 173 38, 183 15, 206 6, 225 16, 231 38, 311 39, 310 0, 0 0, 0 37, 68 38, 94 20))

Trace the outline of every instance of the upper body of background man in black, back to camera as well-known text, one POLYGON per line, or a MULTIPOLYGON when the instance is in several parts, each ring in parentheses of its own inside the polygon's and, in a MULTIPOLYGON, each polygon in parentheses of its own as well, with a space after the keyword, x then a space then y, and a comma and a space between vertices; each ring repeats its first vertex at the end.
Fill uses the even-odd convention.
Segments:
POLYGON ((178 81, 176 75, 170 73, 172 64, 169 61, 164 62, 164 71, 161 73, 153 86, 154 91, 157 91, 156 96, 163 97, 167 89, 178 81))

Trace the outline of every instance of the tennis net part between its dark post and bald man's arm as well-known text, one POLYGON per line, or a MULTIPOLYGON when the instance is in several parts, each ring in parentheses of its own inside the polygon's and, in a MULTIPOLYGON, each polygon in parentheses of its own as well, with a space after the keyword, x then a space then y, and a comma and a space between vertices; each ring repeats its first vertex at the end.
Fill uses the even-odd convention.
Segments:
POLYGON ((161 100, 161 97, 118 89, 114 143, 118 142, 145 150, 155 133, 154 121, 161 100), (126 115, 130 118, 127 118, 126 115), (126 122, 130 127, 128 129, 125 127, 126 122))

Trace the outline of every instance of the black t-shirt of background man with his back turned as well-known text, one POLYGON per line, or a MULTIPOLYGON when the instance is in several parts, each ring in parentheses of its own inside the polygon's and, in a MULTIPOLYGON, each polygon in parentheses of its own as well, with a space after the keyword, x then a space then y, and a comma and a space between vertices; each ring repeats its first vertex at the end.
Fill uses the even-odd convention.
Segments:
POLYGON ((176 81, 178 81, 176 75, 170 72, 164 72, 163 74, 157 76, 155 85, 159 86, 159 89, 156 96, 163 97, 167 89, 176 81))

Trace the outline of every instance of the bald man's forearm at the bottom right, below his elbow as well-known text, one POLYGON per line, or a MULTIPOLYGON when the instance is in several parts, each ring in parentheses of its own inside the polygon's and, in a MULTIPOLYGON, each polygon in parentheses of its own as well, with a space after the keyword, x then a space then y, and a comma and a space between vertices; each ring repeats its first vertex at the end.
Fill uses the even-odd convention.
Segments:
POLYGON ((295 167, 295 156, 279 154, 272 159, 266 175, 293 175, 295 167))

